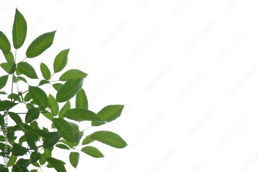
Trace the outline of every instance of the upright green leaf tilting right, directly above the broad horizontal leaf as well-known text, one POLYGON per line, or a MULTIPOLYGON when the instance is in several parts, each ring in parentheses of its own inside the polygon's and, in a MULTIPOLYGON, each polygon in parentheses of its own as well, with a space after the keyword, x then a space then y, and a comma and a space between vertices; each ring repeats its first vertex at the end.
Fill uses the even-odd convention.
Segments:
POLYGON ((69 54, 70 48, 62 50, 54 60, 54 73, 58 73, 65 68, 68 61, 68 54, 69 54))

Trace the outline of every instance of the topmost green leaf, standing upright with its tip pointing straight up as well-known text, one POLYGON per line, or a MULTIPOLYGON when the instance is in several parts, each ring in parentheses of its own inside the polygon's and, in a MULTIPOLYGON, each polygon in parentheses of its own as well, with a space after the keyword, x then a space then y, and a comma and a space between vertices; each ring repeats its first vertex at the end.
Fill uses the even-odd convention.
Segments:
POLYGON ((13 47, 15 49, 21 48, 23 43, 25 42, 25 38, 27 35, 27 22, 23 15, 17 10, 14 16, 13 22, 13 47))

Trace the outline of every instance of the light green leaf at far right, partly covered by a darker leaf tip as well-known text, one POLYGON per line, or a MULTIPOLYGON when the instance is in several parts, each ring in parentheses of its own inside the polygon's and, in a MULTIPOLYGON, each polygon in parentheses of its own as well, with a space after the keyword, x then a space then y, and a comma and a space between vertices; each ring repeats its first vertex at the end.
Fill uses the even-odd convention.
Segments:
MULTIPOLYGON (((105 122, 111 122, 121 116, 124 105, 109 105, 101 109, 97 115, 105 122)), ((92 126, 100 126, 106 124, 105 122, 92 122, 92 126)))

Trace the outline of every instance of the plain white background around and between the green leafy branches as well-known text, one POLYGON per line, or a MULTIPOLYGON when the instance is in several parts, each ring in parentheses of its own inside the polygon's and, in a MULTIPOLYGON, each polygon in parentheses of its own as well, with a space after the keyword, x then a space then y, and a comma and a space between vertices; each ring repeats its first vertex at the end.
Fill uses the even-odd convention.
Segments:
MULTIPOLYGON (((28 23, 29 33, 17 52, 17 61, 25 58, 27 47, 36 37, 58 30, 50 49, 27 60, 34 65, 40 79, 43 79, 40 63, 50 66, 53 72, 51 66, 55 56, 70 47, 65 70, 75 68, 89 74, 83 85, 89 109, 97 113, 107 105, 127 107, 115 124, 106 124, 108 130, 119 134, 129 144, 125 149, 94 142, 91 145, 97 147, 105 158, 94 159, 82 153, 77 170, 70 166, 70 151, 55 148, 53 157, 66 162, 67 171, 186 172, 198 171, 197 167, 202 168, 202 165, 205 165, 203 172, 237 172, 245 165, 246 169, 242 171, 257 170, 258 72, 254 67, 258 65, 258 1, 234 0, 235 4, 229 6, 230 0, 152 0, 144 5, 141 4, 144 0, 104 0, 95 12, 89 14, 99 2, 1 1, 0 30, 10 41, 15 6, 28 23), (116 28, 119 26, 123 29, 118 32, 116 28), (157 31, 161 33, 155 37, 157 31), (100 48, 112 33, 115 37, 100 48), (150 41, 151 37, 153 41, 150 41), (198 42, 196 38, 199 38, 198 42), (238 39, 239 44, 236 43, 238 39), (60 42, 62 45, 58 46, 60 42), (141 51, 144 44, 147 48, 141 51), (194 45, 187 51, 189 44, 194 45), (221 54, 227 54, 230 47, 231 52, 222 59, 221 54), (133 58, 136 51, 140 55, 133 58), (170 70, 166 69, 168 64, 173 65, 170 70), (162 71, 166 72, 165 75, 160 73, 162 71), (112 78, 115 73, 119 74, 116 79, 112 78), (203 81, 198 80, 201 75, 205 78, 203 81), (111 84, 108 84, 109 79, 114 79, 111 84), (154 81, 156 79, 158 81, 154 81), (241 81, 243 83, 238 87, 241 81), (106 89, 98 92, 103 86, 106 89), (149 90, 144 91, 147 87, 149 90), (235 92, 233 87, 237 89, 235 92), (192 91, 184 94, 189 88, 192 91), (92 100, 95 93, 99 95, 92 100), (180 96, 185 98, 181 97, 182 101, 178 103, 176 99, 180 96), (217 110, 206 121, 204 116, 212 108, 217 110), (164 119, 157 122, 160 117, 164 119), (248 123, 241 125, 245 120, 248 123), (155 122, 158 125, 153 125, 155 122), (200 123, 203 125, 198 125, 200 123), (194 128, 196 126, 199 128, 194 128), (196 130, 195 133, 192 129, 196 130), (192 135, 189 134, 191 131, 192 135), (228 138, 233 132, 235 136, 228 138), (175 153, 170 156, 173 149, 175 153), (168 158, 165 160, 164 156, 168 158)), ((4 62, 3 55, 0 57, 4 62)), ((58 80, 61 74, 55 74, 53 80, 58 80)), ((40 80, 28 81, 36 86, 40 80)), ((9 93, 10 83, 5 87, 9 93)), ((19 83, 20 90, 28 89, 25 83, 19 83)), ((42 88, 47 93, 56 93, 51 85, 42 88)), ((74 107, 75 99, 71 102, 74 107)), ((15 110, 26 109, 21 106, 15 110)), ((45 117, 40 119, 39 126, 51 128, 45 117)), ((88 126, 90 123, 85 122, 80 129, 88 126)), ((106 130, 106 126, 91 127, 85 135, 106 130)), ((42 170, 53 171, 46 167, 42 170)))

